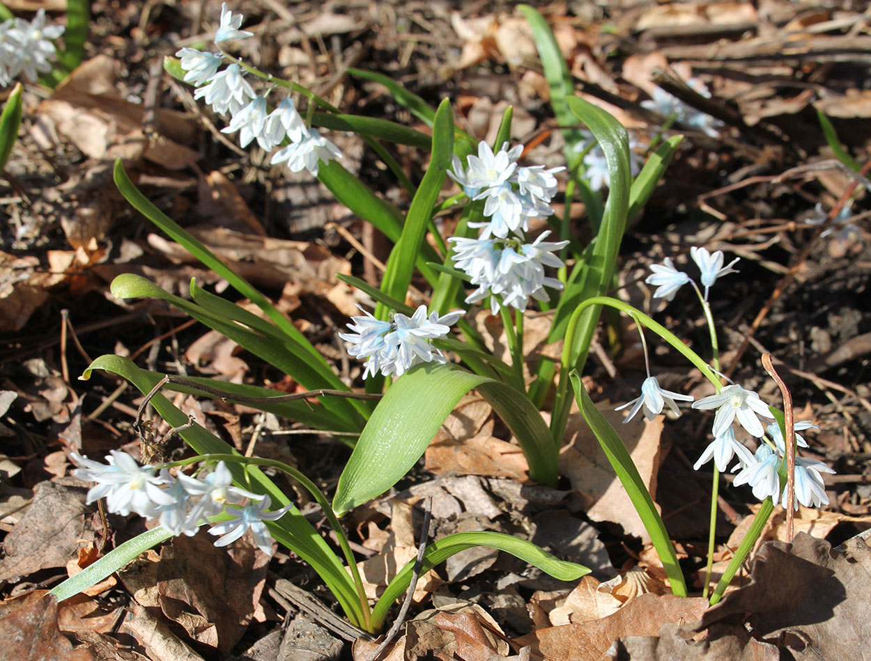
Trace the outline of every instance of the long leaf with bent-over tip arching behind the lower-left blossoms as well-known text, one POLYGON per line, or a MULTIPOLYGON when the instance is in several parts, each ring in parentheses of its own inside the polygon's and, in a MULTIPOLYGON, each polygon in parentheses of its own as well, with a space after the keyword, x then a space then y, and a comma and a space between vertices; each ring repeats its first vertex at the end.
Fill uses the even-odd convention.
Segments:
MULTIPOLYGON (((130 360, 120 356, 98 357, 88 366, 81 378, 85 380, 90 378, 93 370, 105 370, 117 374, 119 377, 124 377, 143 394, 151 391, 159 380, 159 377, 157 380, 153 380, 154 375, 150 372, 139 370, 130 360)), ((160 417, 172 427, 182 426, 188 421, 186 414, 176 408, 161 393, 152 397, 151 404, 158 411, 160 417)), ((193 424, 191 427, 179 431, 179 434, 197 454, 238 454, 230 445, 206 431, 199 424, 193 424)), ((248 490, 267 494, 275 507, 290 503, 287 496, 259 468, 255 466, 243 467, 240 464, 228 464, 227 467, 237 484, 248 490)), ((308 523, 306 517, 293 507, 284 517, 280 518, 276 525, 270 526, 270 531, 281 544, 285 544, 314 567, 314 570, 318 572, 324 583, 339 600, 348 618, 354 624, 361 626, 363 615, 354 582, 341 560, 334 555, 327 542, 314 530, 312 524, 308 523)))

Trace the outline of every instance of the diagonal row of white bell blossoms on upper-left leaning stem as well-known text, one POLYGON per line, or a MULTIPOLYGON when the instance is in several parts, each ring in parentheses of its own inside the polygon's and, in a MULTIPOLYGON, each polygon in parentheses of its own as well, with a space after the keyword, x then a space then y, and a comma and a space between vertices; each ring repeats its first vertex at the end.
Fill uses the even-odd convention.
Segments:
MULTIPOLYGON (((226 3, 221 4, 220 26, 214 42, 252 37, 253 33, 240 30, 241 24, 241 14, 233 15, 226 3)), ((176 55, 185 70, 184 80, 197 88, 193 97, 202 98, 221 115, 230 115, 230 124, 221 133, 238 131, 242 147, 256 140, 261 149, 271 151, 288 140, 289 144, 273 154, 271 163, 287 163, 291 171, 308 170, 314 177, 321 162, 341 157, 338 147, 306 125, 290 97, 285 97, 270 112, 267 97, 254 91, 238 63, 221 69, 223 54, 191 48, 183 48, 176 55)))

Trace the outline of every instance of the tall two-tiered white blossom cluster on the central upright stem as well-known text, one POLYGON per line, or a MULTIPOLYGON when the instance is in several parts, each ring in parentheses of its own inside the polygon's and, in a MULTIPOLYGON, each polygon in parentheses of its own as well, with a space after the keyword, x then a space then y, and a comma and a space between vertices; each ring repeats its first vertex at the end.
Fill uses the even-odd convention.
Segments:
POLYGON ((531 243, 525 237, 530 220, 553 214, 550 200, 557 193, 557 177, 564 168, 545 170, 542 165, 517 167, 523 145, 508 149, 503 144, 496 154, 490 145, 478 144, 478 155, 467 157, 468 169, 454 157, 449 177, 463 188, 470 200, 485 200, 483 215, 488 220, 469 223, 481 228, 477 238, 451 237, 454 266, 462 270, 477 289, 466 303, 490 298, 493 314, 502 305, 526 310, 530 297, 548 301, 545 287, 562 290, 563 283, 544 275, 544 267, 559 268, 563 260, 554 254, 568 241, 545 242, 544 231, 531 243))

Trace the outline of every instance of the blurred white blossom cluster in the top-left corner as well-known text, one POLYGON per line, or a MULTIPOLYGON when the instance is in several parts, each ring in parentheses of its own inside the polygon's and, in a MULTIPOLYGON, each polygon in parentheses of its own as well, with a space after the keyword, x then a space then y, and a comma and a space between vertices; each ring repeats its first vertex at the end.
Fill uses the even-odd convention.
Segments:
POLYGON ((24 73, 30 82, 51 71, 57 51, 51 39, 64 34, 63 25, 45 24, 45 10, 32 21, 10 18, 0 23, 0 85, 6 87, 24 73))

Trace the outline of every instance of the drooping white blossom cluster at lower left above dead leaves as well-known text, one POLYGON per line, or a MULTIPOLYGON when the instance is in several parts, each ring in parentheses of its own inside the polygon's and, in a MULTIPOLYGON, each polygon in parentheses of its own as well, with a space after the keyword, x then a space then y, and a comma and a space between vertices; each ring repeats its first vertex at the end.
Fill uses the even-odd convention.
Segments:
POLYGON ((268 496, 233 486, 233 477, 224 462, 213 471, 190 477, 179 472, 172 477, 165 468, 139 465, 126 452, 110 451, 106 464, 100 464, 77 453, 71 454, 78 466, 74 477, 95 482, 88 491, 87 504, 106 499, 106 509, 126 516, 131 512, 145 519, 157 519, 166 531, 178 537, 191 537, 207 517, 224 513, 230 518, 213 524, 209 532, 218 535, 215 546, 226 546, 252 532, 254 543, 267 555, 272 555, 272 536, 264 521, 277 521, 291 505, 269 511, 268 496))

